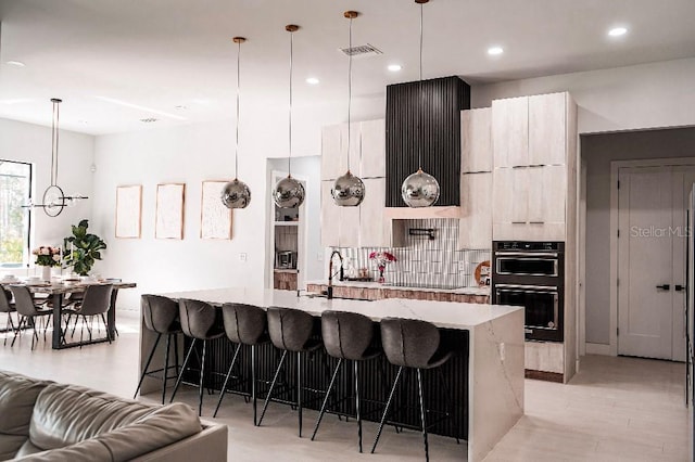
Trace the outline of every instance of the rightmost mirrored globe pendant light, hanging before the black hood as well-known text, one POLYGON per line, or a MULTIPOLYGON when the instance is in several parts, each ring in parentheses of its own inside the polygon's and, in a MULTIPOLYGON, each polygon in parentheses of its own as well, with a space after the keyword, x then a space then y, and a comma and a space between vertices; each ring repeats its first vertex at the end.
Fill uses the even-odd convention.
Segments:
POLYGON ((429 2, 429 0, 415 0, 415 3, 420 5, 420 102, 418 123, 420 142, 418 143, 417 153, 418 169, 415 174, 407 177, 401 187, 403 202, 405 202, 408 207, 429 207, 437 202, 440 192, 437 179, 422 171, 422 142, 425 138, 422 136, 422 100, 425 99, 425 93, 422 92, 422 5, 427 2, 429 2))

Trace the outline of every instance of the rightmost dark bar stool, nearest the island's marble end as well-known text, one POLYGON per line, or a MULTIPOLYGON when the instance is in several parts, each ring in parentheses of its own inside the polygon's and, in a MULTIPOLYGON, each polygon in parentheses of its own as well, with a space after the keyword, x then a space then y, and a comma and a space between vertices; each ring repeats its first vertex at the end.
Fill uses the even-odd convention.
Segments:
MULTIPOLYGON (((399 380, 403 373, 403 368, 415 369, 417 372, 418 400, 420 407, 420 422, 422 424, 422 439, 425 442, 425 458, 430 460, 429 446, 427 442, 427 420, 425 408, 425 392, 422 389, 422 370, 439 368, 452 356, 451 351, 440 348, 440 333, 437 326, 426 321, 401 318, 384 318, 380 322, 381 344, 383 351, 390 363, 399 367, 399 372, 393 382, 393 387, 389 394, 377 438, 371 447, 371 452, 377 449, 383 423, 389 414, 389 408, 393 399, 393 394, 399 380)), ((458 441, 458 438, 456 438, 458 441)))

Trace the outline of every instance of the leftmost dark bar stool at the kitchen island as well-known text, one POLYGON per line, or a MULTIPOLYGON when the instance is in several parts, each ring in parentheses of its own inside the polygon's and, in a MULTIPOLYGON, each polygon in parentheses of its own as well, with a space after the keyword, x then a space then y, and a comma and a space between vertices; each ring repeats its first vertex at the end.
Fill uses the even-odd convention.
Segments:
POLYGON ((178 376, 178 341, 177 335, 180 334, 181 323, 178 318, 178 304, 168 297, 162 297, 160 295, 142 295, 140 297, 140 307, 142 308, 142 320, 144 321, 144 328, 149 331, 156 333, 156 339, 154 341, 154 345, 152 346, 152 350, 150 351, 150 356, 148 357, 148 361, 144 364, 144 369, 142 370, 142 374, 140 374, 140 382, 138 382, 138 388, 135 390, 135 395, 132 399, 138 396, 138 392, 140 392, 140 387, 142 386, 142 381, 146 375, 155 375, 157 373, 162 373, 162 405, 164 405, 164 398, 166 395, 166 381, 168 377, 168 372, 172 367, 169 365, 169 350, 172 349, 172 337, 174 337, 174 356, 175 356, 175 364, 174 370, 176 371, 176 375, 173 378, 178 376), (154 351, 156 351, 156 346, 160 344, 160 339, 162 335, 166 335, 166 351, 164 352, 164 368, 155 369, 153 371, 148 371, 150 368, 150 363, 152 362, 152 358, 154 357, 154 351))

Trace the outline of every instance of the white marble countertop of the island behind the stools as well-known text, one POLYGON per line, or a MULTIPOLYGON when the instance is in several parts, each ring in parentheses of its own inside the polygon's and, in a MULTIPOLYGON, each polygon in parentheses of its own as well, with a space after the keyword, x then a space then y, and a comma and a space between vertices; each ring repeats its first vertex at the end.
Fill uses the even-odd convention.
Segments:
POLYGON ((270 306, 294 308, 313 316, 326 310, 358 312, 374 321, 397 317, 429 321, 443 329, 471 330, 472 328, 522 310, 521 307, 482 304, 452 304, 448 301, 388 298, 378 301, 327 299, 312 295, 296 296, 296 292, 270 288, 226 287, 204 291, 162 294, 170 298, 193 298, 211 304, 243 303, 263 308, 270 306))

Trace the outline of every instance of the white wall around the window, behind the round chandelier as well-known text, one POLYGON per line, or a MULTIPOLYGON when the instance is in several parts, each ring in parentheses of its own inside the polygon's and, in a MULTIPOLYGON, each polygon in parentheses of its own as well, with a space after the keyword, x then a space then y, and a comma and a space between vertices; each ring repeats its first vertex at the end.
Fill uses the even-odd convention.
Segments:
MULTIPOLYGON (((72 224, 91 218, 93 174, 89 167, 94 158, 94 138, 61 130, 59 147, 58 184, 65 194, 78 192, 89 200, 66 207, 54 218, 40 208, 31 209, 33 247, 62 245, 63 238, 71 235, 72 224)), ((51 128, 0 118, 0 158, 34 165, 34 198, 40 202, 51 183, 51 128)), ((90 221, 90 229, 92 224, 90 221)))

